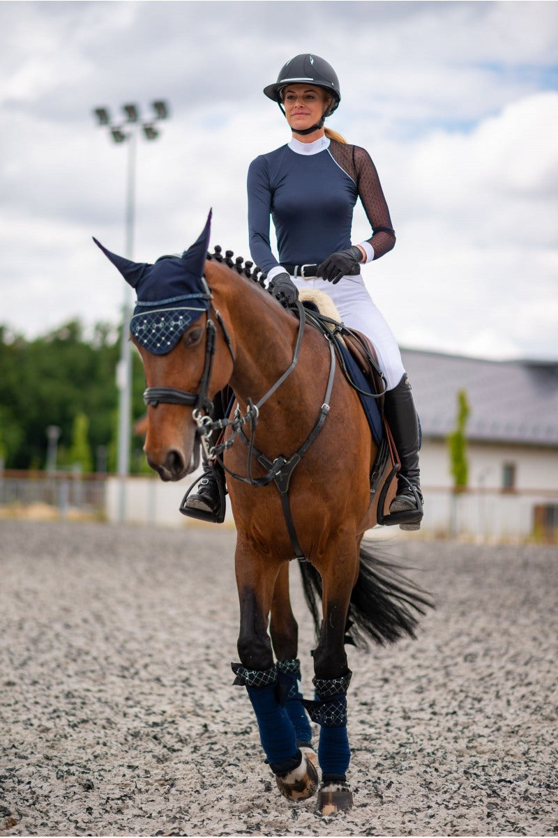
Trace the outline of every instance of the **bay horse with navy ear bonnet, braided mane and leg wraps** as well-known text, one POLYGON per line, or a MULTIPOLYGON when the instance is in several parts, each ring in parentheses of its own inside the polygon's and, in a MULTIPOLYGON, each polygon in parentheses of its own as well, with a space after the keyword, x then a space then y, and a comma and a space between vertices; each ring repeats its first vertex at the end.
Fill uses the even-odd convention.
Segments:
POLYGON ((300 303, 297 316, 287 311, 251 262, 233 262, 230 251, 223 258, 220 248, 209 254, 210 216, 188 251, 154 264, 95 241, 137 290, 131 332, 147 383, 148 463, 163 480, 181 480, 198 468, 201 442, 225 466, 240 601, 232 667, 266 761, 287 799, 318 792, 318 813, 331 815, 353 803, 344 645, 414 636, 430 603, 362 544, 382 516, 380 493, 370 493, 378 447, 331 334, 308 322, 300 303), (214 422, 214 398, 227 386, 235 408, 214 422), (211 446, 215 431, 222 439, 211 446), (295 558, 318 636, 312 701, 300 692, 295 558), (320 726, 318 753, 307 714, 320 726))

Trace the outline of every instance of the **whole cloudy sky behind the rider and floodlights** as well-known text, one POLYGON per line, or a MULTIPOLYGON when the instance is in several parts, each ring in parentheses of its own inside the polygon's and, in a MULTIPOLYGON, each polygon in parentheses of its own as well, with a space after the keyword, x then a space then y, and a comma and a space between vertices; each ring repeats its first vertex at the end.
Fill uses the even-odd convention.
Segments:
MULTIPOLYGON (((96 125, 168 101, 137 136, 133 256, 194 241, 249 258, 245 175, 287 142, 262 88, 300 52, 338 72, 328 120, 368 149, 397 234, 365 266, 400 344, 558 360, 558 3, 0 3, 0 323, 117 323, 128 143, 96 125)), ((364 212, 353 241, 369 236, 364 212)))

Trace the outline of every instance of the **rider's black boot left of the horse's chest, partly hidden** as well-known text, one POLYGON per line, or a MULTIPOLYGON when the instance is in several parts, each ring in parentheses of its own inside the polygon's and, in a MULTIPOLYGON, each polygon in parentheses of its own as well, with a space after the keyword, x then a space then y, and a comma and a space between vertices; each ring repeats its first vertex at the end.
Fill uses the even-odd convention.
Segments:
MULTIPOLYGON (((225 388, 224 391, 215 396, 214 420, 225 418, 229 394, 229 388, 225 388), (225 401, 227 402, 226 405, 225 401)), ((217 442, 217 436, 218 433, 215 434, 215 439, 212 439, 213 444, 217 442)), ((180 504, 180 511, 189 518, 209 521, 211 524, 222 524, 225 520, 226 510, 225 471, 220 463, 208 463, 205 456, 203 456, 202 468, 204 473, 197 484, 191 486, 184 495, 180 504), (198 490, 194 494, 190 494, 196 486, 198 490)))

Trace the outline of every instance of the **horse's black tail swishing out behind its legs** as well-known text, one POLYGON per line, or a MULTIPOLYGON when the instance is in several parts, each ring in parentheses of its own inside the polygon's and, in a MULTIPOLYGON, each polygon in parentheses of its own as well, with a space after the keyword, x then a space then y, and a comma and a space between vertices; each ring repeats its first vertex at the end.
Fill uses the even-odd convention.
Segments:
MULTIPOLYGON (((322 580, 307 561, 299 562, 302 587, 312 613, 316 634, 322 621, 322 580)), ((369 547, 360 547, 359 578, 353 588, 345 629, 345 643, 360 648, 375 643, 395 643, 405 634, 414 638, 418 616, 433 608, 431 597, 401 573, 401 567, 377 558, 369 547)))

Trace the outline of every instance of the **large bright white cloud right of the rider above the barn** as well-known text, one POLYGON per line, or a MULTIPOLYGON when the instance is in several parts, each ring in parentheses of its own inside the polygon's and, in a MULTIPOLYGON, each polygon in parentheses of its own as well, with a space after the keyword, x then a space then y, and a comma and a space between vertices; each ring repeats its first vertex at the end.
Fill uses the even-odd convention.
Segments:
POLYGON ((468 134, 382 147, 398 239, 366 277, 401 343, 558 355, 556 136, 558 94, 544 92, 468 134))

